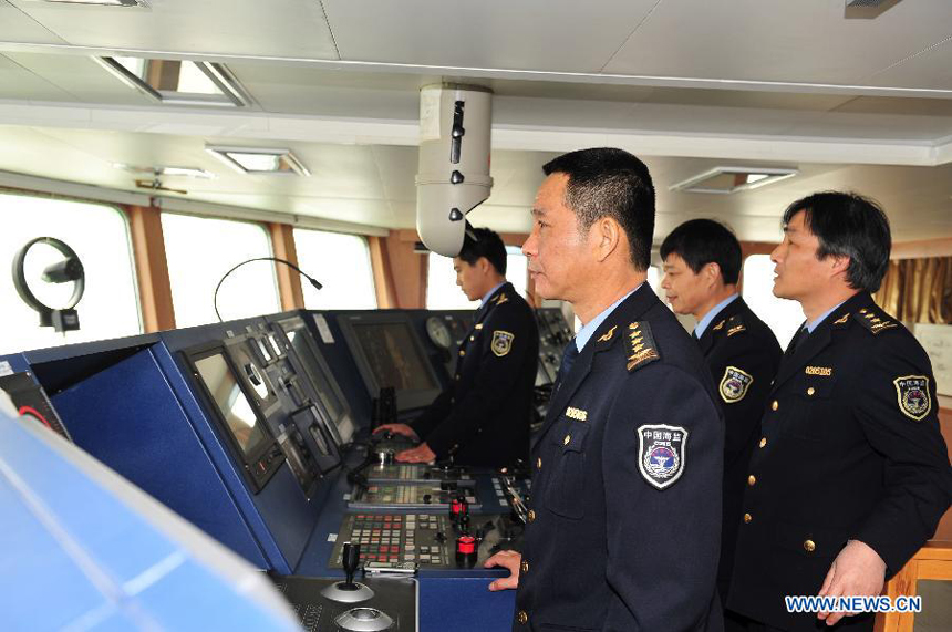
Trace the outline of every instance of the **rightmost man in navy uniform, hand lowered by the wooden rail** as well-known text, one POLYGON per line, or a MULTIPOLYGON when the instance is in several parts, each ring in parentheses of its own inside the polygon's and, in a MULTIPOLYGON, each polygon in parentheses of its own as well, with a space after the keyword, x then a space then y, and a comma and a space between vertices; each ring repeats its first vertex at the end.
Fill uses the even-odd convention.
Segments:
POLYGON ((855 194, 784 214, 774 293, 807 320, 780 361, 736 517, 727 608, 746 630, 871 631, 872 613, 788 612, 784 598, 880 594, 949 507, 929 358, 870 296, 890 239, 882 209, 855 194))

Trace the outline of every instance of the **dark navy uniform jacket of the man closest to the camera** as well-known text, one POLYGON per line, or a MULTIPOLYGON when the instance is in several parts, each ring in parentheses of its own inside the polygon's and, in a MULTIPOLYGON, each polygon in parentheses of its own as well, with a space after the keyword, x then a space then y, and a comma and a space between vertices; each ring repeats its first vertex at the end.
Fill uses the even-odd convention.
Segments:
POLYGON ((721 630, 724 427, 648 283, 588 341, 532 437, 514 630, 721 630))

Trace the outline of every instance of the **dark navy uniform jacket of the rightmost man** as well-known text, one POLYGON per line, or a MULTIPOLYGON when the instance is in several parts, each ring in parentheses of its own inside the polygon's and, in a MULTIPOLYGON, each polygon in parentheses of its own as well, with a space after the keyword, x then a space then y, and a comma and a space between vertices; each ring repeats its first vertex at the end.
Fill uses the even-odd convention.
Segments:
MULTIPOLYGON (((924 350, 860 292, 787 352, 749 463, 727 608, 816 630, 784 595, 813 595, 848 540, 887 579, 934 533, 952 495, 935 380, 924 350)), ((872 630, 852 617, 836 630, 872 630)), ((821 626, 820 626, 821 628, 821 626)))

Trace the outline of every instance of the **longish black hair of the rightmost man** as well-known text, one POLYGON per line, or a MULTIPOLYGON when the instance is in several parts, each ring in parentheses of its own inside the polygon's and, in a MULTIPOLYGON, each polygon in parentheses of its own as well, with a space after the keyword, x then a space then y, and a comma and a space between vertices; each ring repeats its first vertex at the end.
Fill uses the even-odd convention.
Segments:
POLYGON ((800 198, 784 211, 784 226, 800 211, 819 239, 817 259, 849 257, 846 280, 855 290, 875 292, 889 268, 892 236, 886 213, 855 193, 821 191, 800 198))

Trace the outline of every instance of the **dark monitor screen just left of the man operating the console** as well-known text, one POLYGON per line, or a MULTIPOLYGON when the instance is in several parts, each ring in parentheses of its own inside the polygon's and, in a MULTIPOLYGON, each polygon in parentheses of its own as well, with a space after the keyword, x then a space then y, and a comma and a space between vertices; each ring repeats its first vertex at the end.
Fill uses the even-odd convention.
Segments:
POLYGON ((393 386, 397 393, 439 388, 408 322, 353 320, 351 327, 381 388, 393 386))

